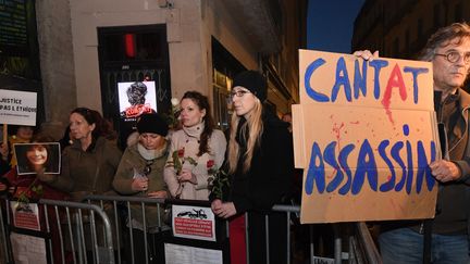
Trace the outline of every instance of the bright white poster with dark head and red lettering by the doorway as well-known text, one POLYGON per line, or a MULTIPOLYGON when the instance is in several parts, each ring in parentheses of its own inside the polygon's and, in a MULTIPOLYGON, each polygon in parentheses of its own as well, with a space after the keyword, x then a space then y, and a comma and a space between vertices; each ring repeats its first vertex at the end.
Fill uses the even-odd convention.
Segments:
POLYGON ((118 83, 121 118, 135 121, 141 114, 157 112, 154 81, 118 83))

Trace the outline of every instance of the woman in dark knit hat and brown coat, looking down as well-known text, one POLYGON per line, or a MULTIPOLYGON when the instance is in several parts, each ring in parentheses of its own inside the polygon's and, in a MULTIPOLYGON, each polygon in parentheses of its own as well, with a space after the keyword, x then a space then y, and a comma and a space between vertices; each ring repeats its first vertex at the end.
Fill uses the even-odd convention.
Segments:
MULTIPOLYGON (((144 114, 137 121, 138 141, 124 151, 118 172, 112 183, 114 189, 123 196, 166 198, 166 185, 163 180, 163 168, 168 158, 166 134, 169 127, 159 114, 144 114)), ((159 226, 157 205, 146 205, 146 225, 140 204, 131 205, 134 241, 134 263, 146 263, 147 249, 149 263, 163 263, 163 249, 156 241, 161 230, 170 229, 159 226), (147 226, 147 241, 144 244, 144 226, 147 226)), ((160 212, 163 215, 163 211, 160 212)), ((163 219, 160 219, 163 223, 163 219)), ((127 262, 132 263, 132 244, 125 246, 127 262)))

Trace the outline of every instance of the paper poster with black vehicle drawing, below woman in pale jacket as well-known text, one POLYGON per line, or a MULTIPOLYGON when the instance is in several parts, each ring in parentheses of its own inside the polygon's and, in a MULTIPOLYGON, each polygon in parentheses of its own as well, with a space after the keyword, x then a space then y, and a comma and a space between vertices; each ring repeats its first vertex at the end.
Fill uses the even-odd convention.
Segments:
POLYGON ((173 236, 215 241, 215 217, 210 208, 172 205, 173 236))

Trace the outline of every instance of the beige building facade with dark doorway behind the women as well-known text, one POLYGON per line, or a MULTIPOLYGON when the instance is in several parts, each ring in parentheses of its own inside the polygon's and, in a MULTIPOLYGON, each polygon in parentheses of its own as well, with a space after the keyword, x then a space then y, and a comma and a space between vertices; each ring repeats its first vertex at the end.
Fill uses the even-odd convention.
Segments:
POLYGON ((120 81, 153 80, 158 112, 169 111, 172 97, 200 91, 222 128, 240 71, 267 76, 268 104, 279 114, 298 102, 307 0, 23 1, 34 4, 37 23, 38 122, 55 138, 76 106, 102 112, 119 129, 120 81))

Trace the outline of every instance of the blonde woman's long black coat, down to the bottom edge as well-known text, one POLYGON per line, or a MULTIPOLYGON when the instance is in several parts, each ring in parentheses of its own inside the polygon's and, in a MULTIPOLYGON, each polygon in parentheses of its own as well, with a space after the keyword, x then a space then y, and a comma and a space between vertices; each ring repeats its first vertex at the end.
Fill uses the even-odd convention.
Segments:
MULTIPOLYGON (((246 122, 240 121, 240 125, 246 122)), ((237 214, 248 212, 248 238, 250 263, 267 263, 265 215, 269 215, 270 263, 286 263, 287 217, 273 213, 271 208, 289 196, 294 177, 294 150, 287 123, 275 115, 263 114, 261 144, 255 150, 251 167, 242 172, 244 158, 238 160, 237 171, 232 175, 228 200, 237 214)), ((238 134, 240 153, 246 150, 246 139, 238 134)))

